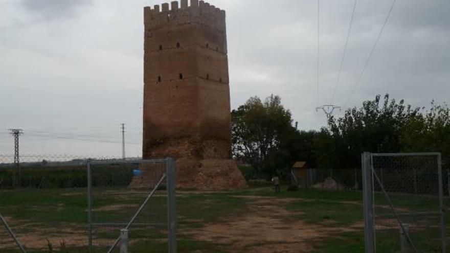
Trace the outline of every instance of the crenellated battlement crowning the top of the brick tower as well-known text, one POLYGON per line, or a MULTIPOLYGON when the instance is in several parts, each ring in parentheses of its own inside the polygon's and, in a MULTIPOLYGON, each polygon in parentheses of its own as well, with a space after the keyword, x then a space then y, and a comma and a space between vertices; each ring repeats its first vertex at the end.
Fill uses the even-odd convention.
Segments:
POLYGON ((144 24, 150 30, 166 26, 196 23, 225 31, 225 11, 204 1, 172 1, 153 8, 144 7, 144 24), (161 8, 160 8, 161 7, 161 8))

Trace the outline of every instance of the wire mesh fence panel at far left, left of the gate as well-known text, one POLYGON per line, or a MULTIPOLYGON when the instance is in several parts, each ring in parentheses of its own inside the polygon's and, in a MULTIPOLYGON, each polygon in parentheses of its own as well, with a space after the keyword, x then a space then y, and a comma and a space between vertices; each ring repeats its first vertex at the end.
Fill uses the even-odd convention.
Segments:
MULTIPOLYGON (((85 159, 24 155, 13 161, 0 155, 0 213, 20 244, 28 252, 85 250, 85 159)), ((0 252, 20 251, 7 230, 0 221, 0 252)))

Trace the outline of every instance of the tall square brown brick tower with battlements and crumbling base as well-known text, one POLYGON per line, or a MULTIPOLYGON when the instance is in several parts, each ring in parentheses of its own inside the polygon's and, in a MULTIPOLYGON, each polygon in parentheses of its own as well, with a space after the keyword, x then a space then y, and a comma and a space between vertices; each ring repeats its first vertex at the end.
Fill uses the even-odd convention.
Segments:
POLYGON ((231 160, 225 12, 203 1, 144 8, 144 158, 177 158, 178 186, 241 188, 231 160))

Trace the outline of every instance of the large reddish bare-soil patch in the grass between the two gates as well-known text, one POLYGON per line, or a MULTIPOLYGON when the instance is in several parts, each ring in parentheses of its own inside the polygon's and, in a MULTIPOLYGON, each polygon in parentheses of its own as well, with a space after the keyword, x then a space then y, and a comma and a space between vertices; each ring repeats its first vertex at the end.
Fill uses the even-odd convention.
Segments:
POLYGON ((359 229, 359 224, 342 228, 292 219, 298 213, 287 211, 282 206, 296 201, 293 199, 253 199, 246 215, 182 233, 189 234, 196 240, 230 244, 232 252, 299 253, 310 252, 312 243, 327 235, 359 229))

